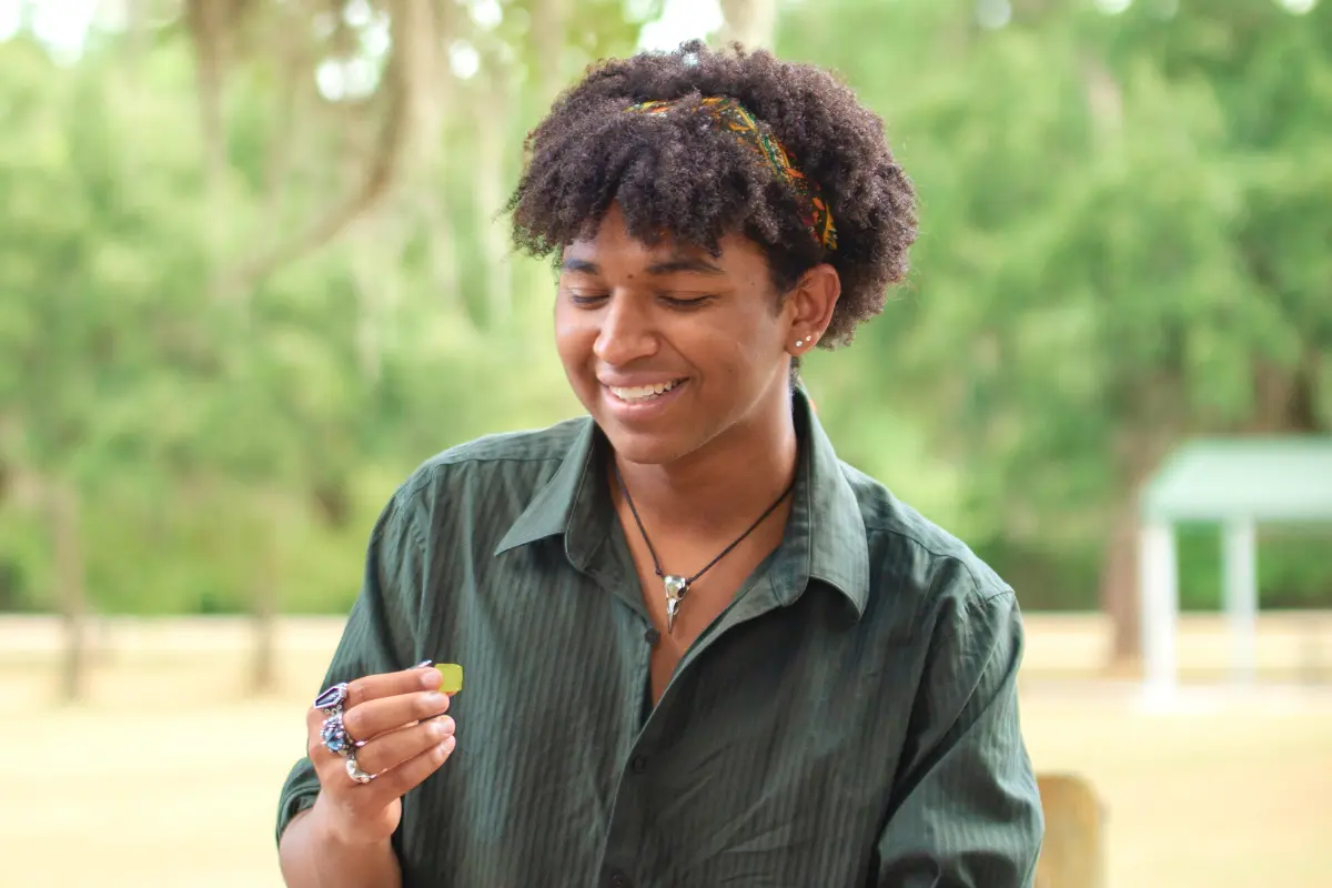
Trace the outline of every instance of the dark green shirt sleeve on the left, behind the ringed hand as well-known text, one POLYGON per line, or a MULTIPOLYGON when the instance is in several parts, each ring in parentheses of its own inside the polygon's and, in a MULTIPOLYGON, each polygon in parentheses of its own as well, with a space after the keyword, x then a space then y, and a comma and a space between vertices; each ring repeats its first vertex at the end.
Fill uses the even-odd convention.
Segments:
MULTIPOLYGON (((417 662, 418 647, 413 627, 421 600, 421 551, 410 526, 400 490, 380 514, 366 549, 361 591, 348 615, 324 682, 310 691, 310 699, 325 687, 350 682, 362 675, 394 672, 417 662)), ((302 724, 298 714, 293 722, 302 724)), ((304 738, 304 731, 302 731, 304 738)), ((277 809, 277 840, 292 819, 314 804, 320 783, 314 766, 301 756, 282 784, 277 809)))

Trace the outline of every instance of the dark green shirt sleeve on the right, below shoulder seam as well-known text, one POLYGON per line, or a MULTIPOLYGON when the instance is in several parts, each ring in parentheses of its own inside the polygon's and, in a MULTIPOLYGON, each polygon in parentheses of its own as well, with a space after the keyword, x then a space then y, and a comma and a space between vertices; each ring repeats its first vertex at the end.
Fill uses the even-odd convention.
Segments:
POLYGON ((878 841, 883 888, 1030 888, 1044 835, 1022 739, 1011 590, 950 602, 878 841))

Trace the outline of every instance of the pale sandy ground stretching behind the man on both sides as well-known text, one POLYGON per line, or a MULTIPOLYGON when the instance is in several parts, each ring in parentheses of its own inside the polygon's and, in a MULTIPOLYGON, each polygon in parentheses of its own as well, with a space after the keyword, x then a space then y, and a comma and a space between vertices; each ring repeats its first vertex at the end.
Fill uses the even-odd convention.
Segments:
MULTIPOLYGON (((1193 690, 1175 711, 1150 711, 1131 684, 1080 674, 1088 626, 1030 624, 1023 718, 1038 770, 1079 772, 1104 799, 1111 888, 1332 885, 1332 684, 1193 690)), ((12 732, 0 884, 281 885, 277 789, 337 627, 288 627, 282 690, 264 699, 241 692, 234 630, 124 623, 107 636, 89 700, 57 707, 51 651, 35 640, 45 630, 0 622, 12 732)), ((1216 656, 1184 658, 1185 670, 1224 667, 1224 639, 1199 639, 1184 650, 1216 656)), ((1307 650, 1280 638, 1260 650, 1277 679, 1309 678, 1307 650)))

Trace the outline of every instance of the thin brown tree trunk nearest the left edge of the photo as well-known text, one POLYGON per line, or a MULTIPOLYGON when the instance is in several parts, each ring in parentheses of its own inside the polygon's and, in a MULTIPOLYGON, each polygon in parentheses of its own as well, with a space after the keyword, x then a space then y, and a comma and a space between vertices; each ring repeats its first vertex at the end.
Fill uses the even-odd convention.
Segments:
POLYGON ((45 494, 56 560, 56 600, 65 631, 59 695, 61 702, 75 703, 83 698, 88 679, 88 599, 79 493, 67 482, 49 481, 45 494))

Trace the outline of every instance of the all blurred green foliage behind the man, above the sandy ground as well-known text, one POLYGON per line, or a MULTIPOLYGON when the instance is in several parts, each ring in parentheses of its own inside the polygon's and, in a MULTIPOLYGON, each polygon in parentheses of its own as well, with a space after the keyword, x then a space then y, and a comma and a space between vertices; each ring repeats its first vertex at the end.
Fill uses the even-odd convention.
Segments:
MULTIPOLYGON (((178 23, 67 65, 0 44, 0 610, 55 606, 60 481, 97 610, 344 611, 412 467, 578 410, 549 269, 492 254, 478 185, 507 190, 553 87, 631 51, 658 4, 565 5, 558 40, 539 0, 493 27, 458 7, 481 69, 441 68, 433 141, 330 245, 236 290, 357 181, 356 114, 382 96, 312 95, 258 19, 210 169, 178 23)), ((806 366, 821 418, 1027 607, 1094 606, 1111 523, 1183 437, 1328 431, 1332 4, 1015 3, 996 29, 960 1, 782 8, 781 53, 879 111, 922 201, 911 280, 806 366)), ((1264 604, 1332 604, 1320 534, 1264 535, 1264 604)), ((1213 607, 1215 529, 1180 541, 1184 604, 1213 607)))

